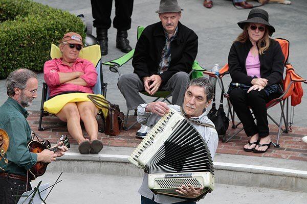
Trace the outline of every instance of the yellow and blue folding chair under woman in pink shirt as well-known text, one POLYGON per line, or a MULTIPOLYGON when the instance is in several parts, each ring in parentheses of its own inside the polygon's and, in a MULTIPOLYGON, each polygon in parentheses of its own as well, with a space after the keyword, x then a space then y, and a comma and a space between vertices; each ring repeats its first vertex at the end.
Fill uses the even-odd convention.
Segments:
MULTIPOLYGON (((51 59, 60 58, 62 56, 60 52, 60 48, 56 46, 55 44, 51 44, 50 49, 50 57, 51 59)), ((91 45, 84 47, 80 50, 79 58, 89 60, 94 65, 96 65, 96 71, 98 73, 97 82, 95 86, 93 87, 93 92, 95 94, 102 94, 104 97, 106 96, 106 86, 107 83, 103 82, 103 73, 102 73, 102 64, 101 64, 101 53, 100 53, 100 46, 99 45, 91 45)), ((43 116, 49 115, 48 112, 43 110, 43 103, 48 99, 49 97, 49 89, 45 82, 42 83, 42 95, 41 95, 41 104, 40 104, 40 115, 39 115, 39 123, 38 123, 38 131, 44 131, 47 129, 51 129, 54 127, 59 126, 49 126, 49 127, 42 127, 42 118, 43 116)), ((98 113, 101 118, 102 122, 104 123, 104 118, 101 112, 98 113)), ((99 132, 103 132, 103 128, 99 129, 99 132)))

